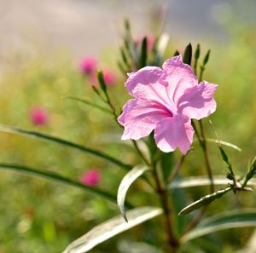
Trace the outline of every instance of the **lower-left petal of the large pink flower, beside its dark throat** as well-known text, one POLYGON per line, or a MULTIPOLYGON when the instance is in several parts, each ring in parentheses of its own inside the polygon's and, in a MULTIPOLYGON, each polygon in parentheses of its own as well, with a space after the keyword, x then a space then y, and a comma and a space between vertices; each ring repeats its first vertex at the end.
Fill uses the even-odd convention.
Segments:
POLYGON ((165 106, 157 102, 144 99, 127 101, 123 113, 118 118, 119 124, 125 127, 122 140, 138 140, 148 136, 158 121, 171 115, 165 106))

